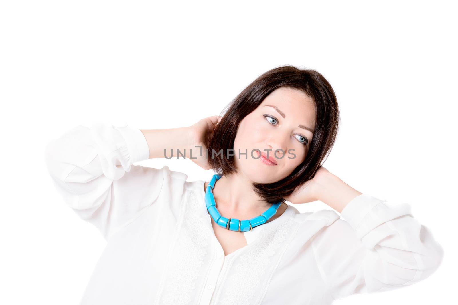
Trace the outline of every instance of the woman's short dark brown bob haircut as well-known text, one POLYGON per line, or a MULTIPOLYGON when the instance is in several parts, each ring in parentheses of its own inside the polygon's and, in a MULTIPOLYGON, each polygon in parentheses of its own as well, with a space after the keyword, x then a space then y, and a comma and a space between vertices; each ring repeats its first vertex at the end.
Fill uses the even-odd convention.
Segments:
POLYGON ((304 162, 280 181, 253 184, 256 194, 269 204, 284 202, 284 197, 312 179, 334 145, 339 126, 339 109, 334 90, 324 76, 315 70, 299 69, 291 65, 279 66, 265 72, 224 108, 221 112, 223 118, 216 125, 213 137, 207 139, 207 160, 213 171, 222 175, 237 174, 233 153, 227 152, 228 149, 234 152, 234 140, 239 123, 255 110, 267 95, 280 87, 299 89, 314 101, 316 124, 304 162), (213 157, 210 152, 214 152, 213 157))

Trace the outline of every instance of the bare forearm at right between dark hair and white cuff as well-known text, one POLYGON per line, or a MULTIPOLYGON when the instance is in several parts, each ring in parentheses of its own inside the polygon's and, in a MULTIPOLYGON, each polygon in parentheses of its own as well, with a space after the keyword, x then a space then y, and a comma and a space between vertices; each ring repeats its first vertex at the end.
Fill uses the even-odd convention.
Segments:
POLYGON ((316 198, 339 213, 353 198, 361 194, 331 173, 323 175, 317 181, 316 198))

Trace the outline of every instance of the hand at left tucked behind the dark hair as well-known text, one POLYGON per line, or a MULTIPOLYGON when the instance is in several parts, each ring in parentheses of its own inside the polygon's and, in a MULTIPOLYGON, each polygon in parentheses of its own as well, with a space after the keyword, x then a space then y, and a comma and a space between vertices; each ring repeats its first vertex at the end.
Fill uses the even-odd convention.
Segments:
POLYGON ((194 143, 191 147, 193 151, 191 161, 205 170, 212 169, 207 160, 207 143, 213 137, 215 128, 222 118, 222 116, 209 116, 189 126, 191 141, 194 143), (202 155, 201 148, 195 146, 202 147, 202 155), (194 159, 195 157, 197 158, 194 159))

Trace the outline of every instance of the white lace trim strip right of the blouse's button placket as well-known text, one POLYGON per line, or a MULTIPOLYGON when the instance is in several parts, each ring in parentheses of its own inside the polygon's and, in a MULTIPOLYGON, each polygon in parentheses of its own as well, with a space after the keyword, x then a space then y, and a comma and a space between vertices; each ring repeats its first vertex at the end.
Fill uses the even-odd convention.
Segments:
MULTIPOLYGON (((254 244, 247 247, 247 251, 240 256, 236 266, 231 268, 234 258, 228 264, 226 273, 228 279, 224 282, 224 296, 219 299, 216 297, 218 305, 250 304, 255 294, 259 294, 264 289, 259 286, 268 284, 266 272, 269 268, 274 268, 277 263, 272 262, 273 256, 278 252, 286 240, 292 226, 296 222, 292 219, 285 221, 278 227, 274 227, 267 232, 262 232, 262 237, 254 244), (219 300, 218 300, 219 299, 219 300)), ((280 259, 280 257, 278 257, 280 259)), ((273 272, 270 270, 269 272, 273 272)), ((216 290, 220 292, 223 281, 218 283, 216 290)), ((267 289, 267 287, 265 287, 267 289)), ((214 304, 212 302, 212 304, 214 304)))

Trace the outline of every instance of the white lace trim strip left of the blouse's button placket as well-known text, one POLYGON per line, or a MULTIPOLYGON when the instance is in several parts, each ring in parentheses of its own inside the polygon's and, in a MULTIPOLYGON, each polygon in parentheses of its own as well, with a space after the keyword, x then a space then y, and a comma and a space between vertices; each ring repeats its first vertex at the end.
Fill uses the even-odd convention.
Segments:
POLYGON ((204 234, 204 224, 196 217, 199 210, 199 202, 193 190, 187 190, 189 196, 183 196, 186 205, 183 213, 183 225, 185 230, 180 234, 169 258, 169 267, 164 271, 167 281, 160 304, 189 304, 192 300, 199 277, 199 271, 207 254, 208 238, 204 234))

